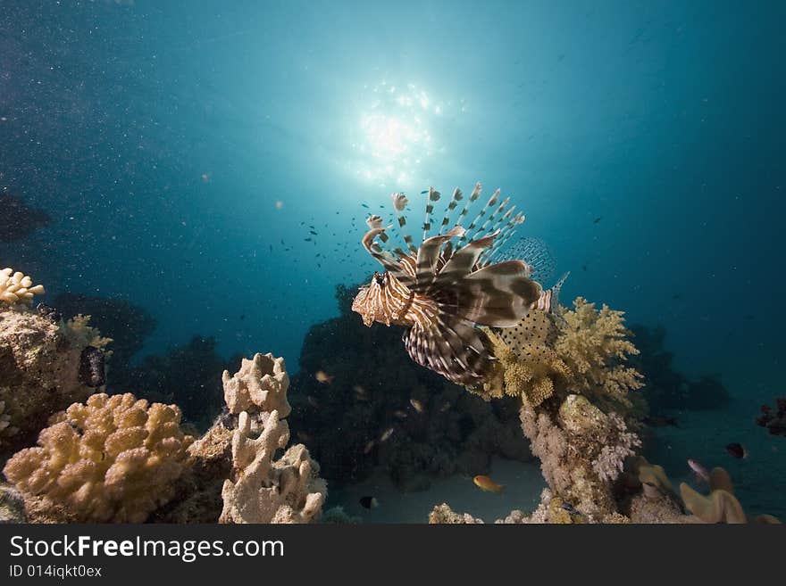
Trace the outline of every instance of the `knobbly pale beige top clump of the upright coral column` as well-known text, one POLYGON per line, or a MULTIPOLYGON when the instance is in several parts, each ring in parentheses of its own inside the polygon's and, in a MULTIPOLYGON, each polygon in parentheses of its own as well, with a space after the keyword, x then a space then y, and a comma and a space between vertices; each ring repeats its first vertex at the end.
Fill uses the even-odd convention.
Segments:
POLYGON ((234 376, 224 371, 224 400, 230 413, 241 411, 273 411, 287 417, 292 408, 287 400, 289 376, 284 359, 272 354, 255 354, 251 360, 243 359, 234 376))

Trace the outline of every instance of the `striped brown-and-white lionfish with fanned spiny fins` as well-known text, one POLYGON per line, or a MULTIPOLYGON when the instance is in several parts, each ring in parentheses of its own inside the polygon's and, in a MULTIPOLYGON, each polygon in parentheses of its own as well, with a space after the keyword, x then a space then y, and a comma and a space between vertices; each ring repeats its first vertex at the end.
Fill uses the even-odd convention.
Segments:
MULTIPOLYGON (((503 254, 503 245, 524 216, 514 213, 515 206, 508 208, 510 198, 499 201, 499 190, 475 219, 462 227, 472 203, 480 196, 478 183, 460 211, 456 226, 446 229, 453 210, 464 199, 456 187, 439 233, 429 236, 431 213, 440 198, 439 192, 430 188, 422 242, 415 246, 406 232, 406 195, 392 194, 406 250, 385 248, 391 226, 383 227, 380 216, 367 219, 364 248, 385 271, 375 272, 371 283, 360 288, 352 303, 352 310, 362 316, 366 326, 373 322, 405 326, 403 341, 410 358, 463 385, 481 382, 495 359, 488 336, 477 326, 513 327, 531 308, 550 311, 562 285, 560 280, 544 291, 532 278, 536 272, 533 265, 522 258, 506 260, 509 255, 503 254)), ((530 244, 524 248, 528 246, 538 249, 530 244)), ((523 252, 521 249, 519 246, 518 252, 523 252)))

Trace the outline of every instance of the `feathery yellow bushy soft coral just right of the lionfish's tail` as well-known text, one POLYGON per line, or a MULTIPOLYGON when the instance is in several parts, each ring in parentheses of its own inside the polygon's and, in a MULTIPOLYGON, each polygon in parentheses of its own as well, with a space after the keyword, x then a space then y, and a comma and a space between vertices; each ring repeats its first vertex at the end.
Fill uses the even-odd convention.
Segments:
POLYGON ((572 372, 573 392, 581 392, 601 402, 631 407, 629 391, 642 386, 640 373, 622 363, 639 351, 626 339, 623 311, 606 304, 598 311, 583 297, 573 301, 574 310, 563 310, 554 349, 572 372))

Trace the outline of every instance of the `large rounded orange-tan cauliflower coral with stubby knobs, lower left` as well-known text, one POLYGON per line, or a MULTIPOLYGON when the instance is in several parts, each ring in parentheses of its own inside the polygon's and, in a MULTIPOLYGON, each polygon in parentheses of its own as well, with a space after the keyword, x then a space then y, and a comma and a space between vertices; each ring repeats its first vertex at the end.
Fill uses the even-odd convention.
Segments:
POLYGON ((176 406, 100 393, 55 415, 38 447, 17 452, 4 475, 26 499, 38 497, 33 508, 65 507, 82 522, 142 523, 171 498, 192 441, 176 406))

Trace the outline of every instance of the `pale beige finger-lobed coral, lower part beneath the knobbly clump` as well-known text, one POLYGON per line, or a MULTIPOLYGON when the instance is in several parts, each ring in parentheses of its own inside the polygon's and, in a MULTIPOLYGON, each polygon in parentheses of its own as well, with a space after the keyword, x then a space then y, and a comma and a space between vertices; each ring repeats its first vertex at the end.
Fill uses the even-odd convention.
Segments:
POLYGON ((263 414, 256 439, 247 412, 240 413, 232 435, 236 475, 223 485, 221 523, 309 523, 320 515, 327 488, 305 446, 294 445, 273 459, 288 441, 289 427, 278 411, 263 414))

